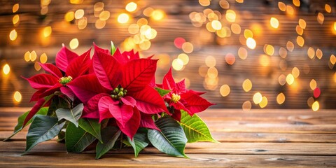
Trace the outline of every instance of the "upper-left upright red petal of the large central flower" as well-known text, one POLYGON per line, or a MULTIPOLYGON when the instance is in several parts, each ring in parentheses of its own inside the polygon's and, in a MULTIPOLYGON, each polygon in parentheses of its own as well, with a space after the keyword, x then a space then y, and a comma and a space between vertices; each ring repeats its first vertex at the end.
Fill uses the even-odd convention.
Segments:
POLYGON ((93 55, 92 60, 94 73, 99 83, 109 90, 117 87, 120 83, 120 63, 111 55, 102 52, 93 55))

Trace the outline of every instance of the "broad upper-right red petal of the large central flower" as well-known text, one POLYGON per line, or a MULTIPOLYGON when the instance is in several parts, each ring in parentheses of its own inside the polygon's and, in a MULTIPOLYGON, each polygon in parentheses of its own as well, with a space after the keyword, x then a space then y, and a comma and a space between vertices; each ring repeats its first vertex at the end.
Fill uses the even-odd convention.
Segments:
POLYGON ((129 92, 138 92, 148 85, 155 76, 156 63, 154 59, 134 59, 125 64, 121 86, 129 92))

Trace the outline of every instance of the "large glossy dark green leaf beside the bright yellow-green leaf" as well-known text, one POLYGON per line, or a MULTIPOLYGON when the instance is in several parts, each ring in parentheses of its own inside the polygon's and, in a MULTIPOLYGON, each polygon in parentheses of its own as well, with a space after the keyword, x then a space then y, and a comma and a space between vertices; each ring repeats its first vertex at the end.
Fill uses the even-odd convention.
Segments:
POLYGON ((155 122, 160 128, 158 130, 148 130, 148 139, 159 151, 172 156, 188 158, 184 154, 184 148, 188 139, 179 123, 171 117, 162 117, 155 122))

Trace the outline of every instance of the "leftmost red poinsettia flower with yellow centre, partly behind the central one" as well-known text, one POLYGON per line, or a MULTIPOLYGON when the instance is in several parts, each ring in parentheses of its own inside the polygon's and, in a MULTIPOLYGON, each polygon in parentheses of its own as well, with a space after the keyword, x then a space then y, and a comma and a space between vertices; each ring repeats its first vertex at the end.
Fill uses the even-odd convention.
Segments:
POLYGON ((37 91, 31 97, 31 101, 38 101, 25 118, 25 125, 38 111, 38 109, 45 104, 44 97, 56 92, 61 91, 66 94, 70 99, 73 99, 73 92, 66 87, 71 80, 82 76, 90 68, 90 50, 78 56, 75 52, 63 47, 56 55, 56 66, 53 64, 40 64, 41 67, 48 73, 41 73, 28 80, 31 87, 37 91))

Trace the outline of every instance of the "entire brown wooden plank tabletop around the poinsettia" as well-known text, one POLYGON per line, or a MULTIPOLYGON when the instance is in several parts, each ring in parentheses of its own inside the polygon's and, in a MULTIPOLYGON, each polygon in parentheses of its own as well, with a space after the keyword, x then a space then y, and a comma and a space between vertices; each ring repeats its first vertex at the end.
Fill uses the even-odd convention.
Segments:
MULTIPOLYGON (((27 108, 0 109, 0 139, 13 132, 27 108)), ((189 159, 146 148, 134 158, 132 148, 110 151, 94 160, 94 150, 66 153, 56 140, 25 151, 27 129, 0 142, 0 167, 336 167, 336 110, 209 109, 200 116, 215 143, 188 144, 189 159)))

